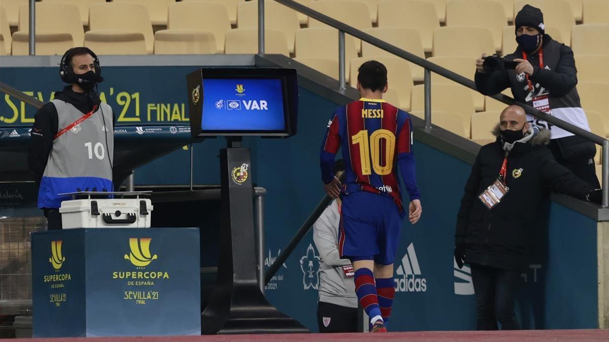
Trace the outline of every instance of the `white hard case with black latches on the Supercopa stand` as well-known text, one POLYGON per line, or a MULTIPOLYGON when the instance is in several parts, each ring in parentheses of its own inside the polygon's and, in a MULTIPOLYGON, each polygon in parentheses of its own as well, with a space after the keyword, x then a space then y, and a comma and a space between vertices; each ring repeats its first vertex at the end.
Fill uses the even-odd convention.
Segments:
POLYGON ((152 203, 148 198, 87 198, 63 201, 63 229, 149 228, 152 203))

